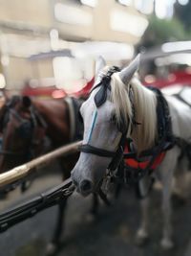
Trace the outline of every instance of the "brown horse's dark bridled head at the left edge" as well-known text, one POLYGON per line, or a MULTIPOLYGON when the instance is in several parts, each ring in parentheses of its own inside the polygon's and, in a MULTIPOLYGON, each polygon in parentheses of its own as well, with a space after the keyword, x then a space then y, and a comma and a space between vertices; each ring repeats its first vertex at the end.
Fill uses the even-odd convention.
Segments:
POLYGON ((43 128, 29 97, 13 96, 0 109, 0 173, 42 151, 43 128))

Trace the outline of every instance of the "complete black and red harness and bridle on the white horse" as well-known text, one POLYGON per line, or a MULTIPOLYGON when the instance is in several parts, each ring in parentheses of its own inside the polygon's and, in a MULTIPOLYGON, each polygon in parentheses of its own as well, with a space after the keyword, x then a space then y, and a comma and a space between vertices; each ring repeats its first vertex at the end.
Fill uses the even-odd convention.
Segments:
MULTIPOLYGON (((95 95, 95 103, 98 108, 103 105, 107 99, 107 91, 111 90, 111 76, 118 72, 117 67, 112 67, 107 72, 106 76, 93 88, 96 89, 100 87, 95 95)), ((140 182, 144 177, 148 177, 151 181, 149 182, 149 187, 146 194, 149 192, 151 185, 153 183, 153 178, 151 174, 158 167, 159 163, 163 160, 165 151, 170 150, 175 145, 175 137, 172 133, 171 118, 169 113, 169 108, 166 100, 162 96, 161 92, 157 88, 150 87, 157 94, 158 105, 157 105, 157 115, 158 115, 158 133, 159 138, 156 142, 156 146, 149 151, 143 151, 140 155, 137 155, 136 151, 132 150, 131 139, 126 139, 128 127, 124 127, 124 124, 118 127, 121 132, 121 139, 118 144, 117 151, 106 151, 93 147, 91 145, 84 144, 79 148, 79 151, 96 154, 102 157, 111 157, 107 168, 106 183, 111 181, 118 181, 128 185, 134 185, 138 190, 138 197, 143 198, 146 195, 142 195, 140 191, 140 182)), ((92 91, 93 91, 92 90, 92 91)), ((133 112, 134 105, 131 101, 133 112)), ((133 126, 139 125, 136 122, 135 116, 133 117, 133 126)), ((131 128, 132 130, 132 128, 131 128)), ((145 193, 144 193, 145 194, 145 193)))

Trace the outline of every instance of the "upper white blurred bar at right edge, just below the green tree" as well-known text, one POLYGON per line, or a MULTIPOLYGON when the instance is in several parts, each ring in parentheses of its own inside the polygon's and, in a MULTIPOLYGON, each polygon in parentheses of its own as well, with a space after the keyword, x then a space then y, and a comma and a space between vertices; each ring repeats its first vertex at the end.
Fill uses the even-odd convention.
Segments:
POLYGON ((161 46, 164 53, 191 50, 191 41, 169 42, 161 46))

